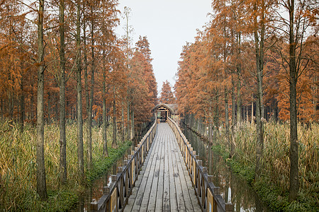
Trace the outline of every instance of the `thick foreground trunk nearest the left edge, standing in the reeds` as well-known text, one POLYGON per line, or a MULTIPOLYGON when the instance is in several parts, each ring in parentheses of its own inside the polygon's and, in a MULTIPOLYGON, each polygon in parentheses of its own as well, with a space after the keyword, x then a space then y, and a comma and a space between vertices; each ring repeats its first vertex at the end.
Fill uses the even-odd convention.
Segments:
POLYGON ((40 199, 47 199, 44 158, 44 45, 43 45, 44 0, 39 0, 38 11, 38 100, 37 100, 37 192, 40 199))

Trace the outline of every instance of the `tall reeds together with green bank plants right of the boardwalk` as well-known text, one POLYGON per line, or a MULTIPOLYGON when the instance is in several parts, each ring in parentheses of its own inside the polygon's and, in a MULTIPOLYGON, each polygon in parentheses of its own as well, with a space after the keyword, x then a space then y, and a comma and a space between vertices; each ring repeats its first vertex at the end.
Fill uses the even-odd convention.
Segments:
MULTIPOLYGON (((209 142, 206 134, 198 133, 196 127, 186 124, 201 139, 209 142)), ((234 131, 235 153, 230 158, 230 147, 225 129, 214 131, 212 149, 223 156, 231 170, 245 179, 272 211, 319 211, 319 124, 311 127, 298 125, 300 145, 299 179, 300 190, 296 201, 289 202, 289 124, 269 122, 264 124, 264 152, 262 175, 255 173, 255 124, 245 122, 240 131, 234 131)))

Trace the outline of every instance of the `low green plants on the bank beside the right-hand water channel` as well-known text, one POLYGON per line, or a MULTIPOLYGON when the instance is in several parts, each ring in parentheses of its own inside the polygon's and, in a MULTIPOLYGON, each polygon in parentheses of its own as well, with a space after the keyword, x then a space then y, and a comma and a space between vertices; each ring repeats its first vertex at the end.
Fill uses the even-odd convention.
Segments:
MULTIPOLYGON (((191 129, 189 126, 187 127, 191 129)), ((201 139, 208 141, 207 136, 199 134, 198 131, 194 129, 191 129, 191 131, 194 131, 194 133, 200 136, 201 139)), ((235 138, 235 140, 236 139, 240 139, 240 137, 238 136, 238 138, 235 138)), ((264 204, 267 205, 267 208, 269 208, 270 210, 284 212, 319 211, 318 181, 312 182, 313 185, 308 190, 301 187, 301 189, 299 190, 297 201, 289 202, 288 190, 284 190, 283 188, 279 187, 278 184, 270 182, 270 176, 262 175, 258 178, 255 178, 254 163, 252 163, 253 161, 242 160, 242 158, 238 158, 238 155, 242 155, 243 153, 235 152, 233 158, 229 158, 230 152, 228 151, 228 148, 220 142, 213 142, 212 150, 222 156, 223 160, 226 161, 233 173, 235 173, 242 179, 245 179, 247 183, 250 184, 252 189, 254 189, 254 192, 258 194, 260 200, 264 202, 264 204)), ((288 170, 288 167, 286 168, 288 170)), ((313 179, 318 179, 318 173, 314 173, 314 175, 317 176, 313 176, 313 179)))

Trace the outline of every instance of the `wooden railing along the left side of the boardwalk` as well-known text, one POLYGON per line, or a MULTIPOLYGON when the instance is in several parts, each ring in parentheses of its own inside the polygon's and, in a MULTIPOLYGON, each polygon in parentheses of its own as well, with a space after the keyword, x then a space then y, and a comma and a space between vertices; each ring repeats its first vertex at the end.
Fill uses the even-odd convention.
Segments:
POLYGON ((142 163, 154 140, 156 129, 157 120, 155 119, 150 130, 135 147, 135 151, 131 151, 128 160, 124 160, 124 166, 118 167, 118 174, 111 176, 111 184, 103 187, 101 199, 91 202, 91 211, 123 211, 140 173, 142 163))

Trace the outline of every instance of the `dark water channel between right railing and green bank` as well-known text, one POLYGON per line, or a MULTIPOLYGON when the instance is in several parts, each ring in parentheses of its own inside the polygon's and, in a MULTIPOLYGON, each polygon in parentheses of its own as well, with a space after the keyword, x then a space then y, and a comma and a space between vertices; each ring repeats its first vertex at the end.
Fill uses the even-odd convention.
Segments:
POLYGON ((270 211, 262 205, 250 185, 233 174, 225 160, 211 150, 211 144, 202 141, 200 137, 186 127, 183 131, 194 151, 196 151, 198 159, 202 160, 203 166, 207 167, 208 175, 213 175, 213 184, 220 187, 220 195, 223 196, 226 203, 233 203, 234 211, 270 211))

